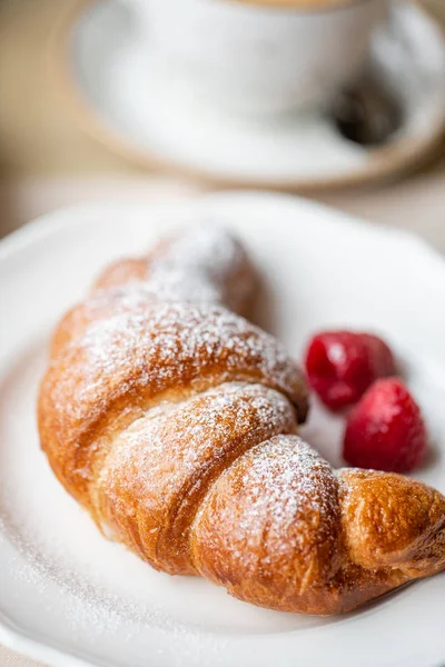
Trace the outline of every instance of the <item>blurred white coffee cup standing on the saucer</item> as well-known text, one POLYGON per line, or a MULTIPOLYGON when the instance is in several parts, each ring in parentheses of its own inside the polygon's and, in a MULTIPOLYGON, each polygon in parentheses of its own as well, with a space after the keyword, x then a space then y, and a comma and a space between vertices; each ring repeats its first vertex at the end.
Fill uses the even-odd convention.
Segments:
POLYGON ((236 0, 127 3, 164 80, 254 116, 328 103, 363 67, 387 7, 387 0, 326 0, 312 10, 236 0))

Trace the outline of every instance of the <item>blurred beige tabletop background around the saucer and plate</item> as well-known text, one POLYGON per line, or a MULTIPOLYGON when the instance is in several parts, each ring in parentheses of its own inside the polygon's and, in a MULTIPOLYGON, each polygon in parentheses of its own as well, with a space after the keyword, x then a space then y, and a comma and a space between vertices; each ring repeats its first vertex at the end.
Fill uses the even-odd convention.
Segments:
MULTIPOLYGON (((67 112, 49 73, 49 44, 67 14, 83 6, 85 0, 0 0, 0 236, 79 200, 162 200, 211 187, 141 169, 87 136, 67 112)), ((445 0, 422 0, 422 6, 445 27, 445 0)), ((312 197, 414 229, 445 250, 445 141, 402 180, 312 197)))

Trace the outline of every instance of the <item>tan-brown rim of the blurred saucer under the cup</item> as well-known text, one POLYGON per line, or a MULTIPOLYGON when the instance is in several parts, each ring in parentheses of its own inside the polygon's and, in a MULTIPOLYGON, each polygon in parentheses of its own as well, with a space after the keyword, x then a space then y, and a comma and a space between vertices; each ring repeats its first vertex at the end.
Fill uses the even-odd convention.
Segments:
MULTIPOLYGON (((76 0, 56 21, 48 40, 46 50, 47 70, 61 103, 70 113, 72 120, 91 139, 106 147, 113 155, 120 156, 129 165, 144 171, 156 171, 160 176, 187 178, 192 182, 205 185, 212 190, 241 188, 257 190, 274 190, 295 193, 328 192, 342 189, 373 186, 379 182, 390 182, 402 176, 408 176, 426 168, 441 155, 439 147, 445 140, 445 118, 437 111, 435 123, 427 137, 407 136, 393 146, 385 145, 375 149, 373 156, 363 167, 352 168, 348 173, 339 176, 323 176, 289 179, 256 179, 226 177, 210 173, 206 169, 191 165, 178 163, 175 158, 155 156, 150 149, 138 149, 125 132, 115 130, 107 123, 106 118, 89 100, 82 87, 76 79, 69 62, 69 40, 81 17, 93 4, 110 0, 76 0)), ((113 0, 116 1, 116 0, 113 0)), ((396 0, 397 1, 397 0, 396 0)), ((407 0, 423 18, 435 27, 445 48, 445 27, 436 17, 423 7, 419 0, 407 0)), ((347 141, 345 139, 345 141, 347 141)), ((442 152, 442 151, 441 151, 442 152)))

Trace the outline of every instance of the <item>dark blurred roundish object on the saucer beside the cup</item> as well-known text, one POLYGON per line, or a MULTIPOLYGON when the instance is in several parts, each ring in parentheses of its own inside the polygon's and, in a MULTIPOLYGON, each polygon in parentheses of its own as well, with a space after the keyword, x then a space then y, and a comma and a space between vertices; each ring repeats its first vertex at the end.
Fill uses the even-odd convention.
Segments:
POLYGON ((404 121, 396 92, 370 70, 337 97, 332 116, 339 132, 362 146, 385 143, 404 121))

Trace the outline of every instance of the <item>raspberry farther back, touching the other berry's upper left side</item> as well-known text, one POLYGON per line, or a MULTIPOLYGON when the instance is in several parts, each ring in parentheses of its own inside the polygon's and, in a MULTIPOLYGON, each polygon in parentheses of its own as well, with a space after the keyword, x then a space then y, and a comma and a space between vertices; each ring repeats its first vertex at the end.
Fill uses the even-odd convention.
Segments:
POLYGON ((306 371, 320 400, 337 411, 357 402, 376 379, 395 375, 396 366, 377 336, 324 331, 310 340, 306 371))

